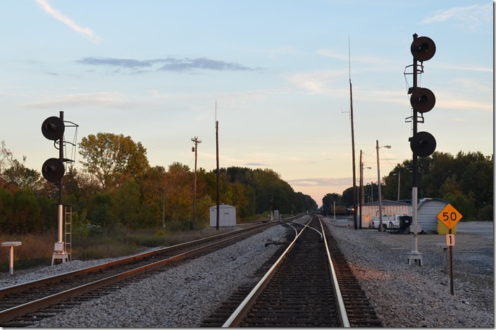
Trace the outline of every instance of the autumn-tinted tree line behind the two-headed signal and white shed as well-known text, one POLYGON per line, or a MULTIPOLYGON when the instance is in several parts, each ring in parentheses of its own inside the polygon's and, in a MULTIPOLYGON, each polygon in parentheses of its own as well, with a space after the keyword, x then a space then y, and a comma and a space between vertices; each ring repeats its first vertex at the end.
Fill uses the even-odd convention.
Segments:
MULTIPOLYGON (((0 145, 0 231, 39 233, 58 226, 58 186, 27 169, 0 145)), ((150 166, 147 149, 129 136, 97 133, 79 143, 81 169, 66 166, 63 203, 72 207, 73 231, 81 236, 112 231, 157 228, 163 219, 169 230, 192 229, 194 172, 174 162, 166 169, 150 166)), ((279 210, 297 214, 316 209, 316 202, 271 169, 229 167, 219 170, 220 202, 236 207, 240 221, 279 210)), ((216 204, 216 170, 197 170, 196 229, 209 226, 209 207, 216 204)))

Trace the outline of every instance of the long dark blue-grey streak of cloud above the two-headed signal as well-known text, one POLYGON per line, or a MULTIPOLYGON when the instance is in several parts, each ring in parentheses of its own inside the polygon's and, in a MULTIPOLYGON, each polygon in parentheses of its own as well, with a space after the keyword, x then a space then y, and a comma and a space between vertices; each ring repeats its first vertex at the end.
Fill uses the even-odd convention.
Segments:
POLYGON ((213 70, 213 71, 258 71, 261 68, 250 68, 243 66, 240 63, 216 61, 213 59, 206 59, 204 57, 197 59, 176 59, 167 57, 165 59, 149 59, 149 60, 135 60, 135 59, 114 59, 110 57, 85 57, 84 59, 76 61, 77 63, 87 64, 92 66, 113 66, 129 69, 136 72, 144 72, 144 69, 150 71, 192 71, 198 70, 213 70))

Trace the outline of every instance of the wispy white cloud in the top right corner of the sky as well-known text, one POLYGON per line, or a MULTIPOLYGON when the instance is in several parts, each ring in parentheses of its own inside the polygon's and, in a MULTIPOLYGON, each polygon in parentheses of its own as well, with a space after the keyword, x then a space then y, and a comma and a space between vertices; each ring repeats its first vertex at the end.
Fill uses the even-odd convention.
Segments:
POLYGON ((459 23, 460 27, 475 30, 485 22, 490 22, 492 19, 492 5, 491 4, 475 4, 465 7, 454 7, 446 11, 438 11, 433 16, 424 18, 422 24, 430 23, 445 23, 448 21, 455 21, 459 23))

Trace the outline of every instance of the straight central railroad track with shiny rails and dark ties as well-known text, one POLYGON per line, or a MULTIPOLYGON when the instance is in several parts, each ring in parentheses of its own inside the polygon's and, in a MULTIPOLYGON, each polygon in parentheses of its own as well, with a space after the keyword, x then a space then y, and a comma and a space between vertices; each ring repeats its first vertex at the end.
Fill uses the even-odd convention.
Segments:
POLYGON ((320 219, 294 227, 293 243, 252 291, 239 288, 202 326, 381 326, 320 219))

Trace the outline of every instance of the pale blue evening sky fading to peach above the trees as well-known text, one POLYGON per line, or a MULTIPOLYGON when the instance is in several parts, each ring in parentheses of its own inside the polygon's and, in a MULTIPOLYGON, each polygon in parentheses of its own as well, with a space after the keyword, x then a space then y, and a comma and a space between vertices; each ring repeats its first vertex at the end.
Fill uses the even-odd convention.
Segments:
POLYGON ((436 97, 419 131, 440 152, 493 152, 492 1, 1 4, 0 140, 31 169, 58 157, 41 124, 64 111, 79 126, 66 140, 129 135, 152 166, 193 168, 197 136, 211 171, 217 118, 221 167, 273 169, 320 205, 352 186, 350 73, 357 180, 363 150, 364 181, 377 181, 376 140, 391 145, 381 176, 411 159, 414 33, 437 49, 419 79, 436 97))

